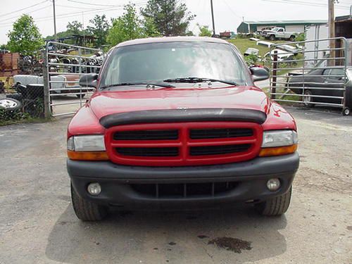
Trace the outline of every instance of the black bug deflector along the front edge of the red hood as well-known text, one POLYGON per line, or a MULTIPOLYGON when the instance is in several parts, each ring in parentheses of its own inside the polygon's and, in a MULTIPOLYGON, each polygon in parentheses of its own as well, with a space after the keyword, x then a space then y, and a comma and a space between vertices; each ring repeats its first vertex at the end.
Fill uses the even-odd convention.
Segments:
POLYGON ((237 121, 263 124, 267 116, 262 111, 230 108, 165 109, 114 113, 99 120, 105 127, 151 122, 237 121))

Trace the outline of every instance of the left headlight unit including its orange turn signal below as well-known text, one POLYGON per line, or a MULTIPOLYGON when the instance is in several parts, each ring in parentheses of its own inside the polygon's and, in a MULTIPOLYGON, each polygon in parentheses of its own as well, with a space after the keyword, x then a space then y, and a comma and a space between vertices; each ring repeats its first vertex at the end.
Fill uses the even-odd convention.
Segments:
POLYGON ((102 134, 70 137, 67 141, 68 158, 74 161, 107 161, 102 134))

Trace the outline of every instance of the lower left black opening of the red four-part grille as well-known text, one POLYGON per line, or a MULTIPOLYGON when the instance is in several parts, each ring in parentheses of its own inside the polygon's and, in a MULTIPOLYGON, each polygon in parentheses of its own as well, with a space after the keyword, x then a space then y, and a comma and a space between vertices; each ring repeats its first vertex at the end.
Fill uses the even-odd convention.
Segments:
POLYGON ((175 157, 178 156, 178 148, 116 148, 123 156, 137 157, 175 157))

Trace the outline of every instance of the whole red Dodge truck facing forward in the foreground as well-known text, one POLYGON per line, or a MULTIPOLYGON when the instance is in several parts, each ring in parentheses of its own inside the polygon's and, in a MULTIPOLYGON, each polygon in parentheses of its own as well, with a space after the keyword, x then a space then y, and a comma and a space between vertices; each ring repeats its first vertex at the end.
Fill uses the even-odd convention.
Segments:
POLYGON ((296 122, 221 39, 135 39, 109 51, 96 92, 68 126, 67 168, 81 220, 123 210, 251 203, 281 215, 298 170, 296 122))

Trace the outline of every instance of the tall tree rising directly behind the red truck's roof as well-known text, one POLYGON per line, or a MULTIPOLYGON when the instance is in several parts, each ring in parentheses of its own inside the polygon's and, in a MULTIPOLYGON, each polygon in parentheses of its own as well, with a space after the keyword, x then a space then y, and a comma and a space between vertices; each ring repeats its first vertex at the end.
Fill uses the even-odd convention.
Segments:
POLYGON ((187 35, 189 23, 195 15, 187 10, 179 0, 149 0, 146 8, 141 8, 144 19, 152 18, 158 32, 163 36, 187 35))

